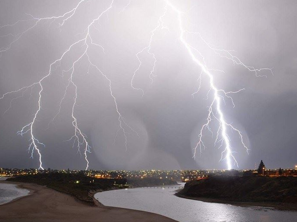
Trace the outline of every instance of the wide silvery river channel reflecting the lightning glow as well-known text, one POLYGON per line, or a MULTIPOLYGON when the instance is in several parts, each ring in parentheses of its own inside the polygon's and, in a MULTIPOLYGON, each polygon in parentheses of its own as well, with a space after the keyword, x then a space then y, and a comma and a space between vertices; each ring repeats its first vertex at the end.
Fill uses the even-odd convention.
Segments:
POLYGON ((135 188, 104 191, 96 193, 95 198, 105 206, 148 211, 181 222, 297 222, 297 212, 207 203, 176 197, 174 193, 175 189, 168 188, 135 188))

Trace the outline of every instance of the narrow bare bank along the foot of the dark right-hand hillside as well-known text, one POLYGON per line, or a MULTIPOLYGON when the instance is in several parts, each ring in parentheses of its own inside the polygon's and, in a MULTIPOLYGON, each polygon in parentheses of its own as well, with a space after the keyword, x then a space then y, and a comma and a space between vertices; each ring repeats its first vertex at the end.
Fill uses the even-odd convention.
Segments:
POLYGON ((243 201, 229 201, 224 199, 213 199, 213 198, 204 198, 204 197, 188 197, 182 194, 175 193, 177 197, 184 199, 198 200, 208 203, 220 203, 220 204, 229 204, 239 207, 269 207, 273 210, 283 210, 283 211, 297 211, 297 204, 290 203, 280 203, 280 202, 243 202, 243 201))

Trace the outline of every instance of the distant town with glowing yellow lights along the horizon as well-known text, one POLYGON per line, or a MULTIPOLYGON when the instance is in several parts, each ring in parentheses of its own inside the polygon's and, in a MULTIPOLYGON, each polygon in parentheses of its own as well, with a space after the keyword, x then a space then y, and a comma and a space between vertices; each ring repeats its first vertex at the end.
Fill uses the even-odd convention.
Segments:
MULTIPOLYGON (((261 168, 262 169, 262 168, 261 168)), ((294 169, 266 169, 262 170, 37 170, 37 169, 7 169, 0 168, 1 177, 13 177, 19 175, 35 175, 38 173, 70 173, 84 174, 93 178, 105 179, 143 179, 158 178, 170 179, 172 181, 194 181, 200 178, 217 175, 233 175, 233 176, 296 176, 297 166, 294 169)))

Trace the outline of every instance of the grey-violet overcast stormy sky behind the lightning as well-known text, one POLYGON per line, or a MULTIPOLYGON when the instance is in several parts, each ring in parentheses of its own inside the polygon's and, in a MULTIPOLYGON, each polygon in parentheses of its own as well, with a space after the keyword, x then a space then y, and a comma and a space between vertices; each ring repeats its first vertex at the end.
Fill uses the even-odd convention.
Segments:
MULTIPOLYGON (((63 16, 78 3, 65 0, 0 2, 0 51, 3 51, 0 97, 48 75, 50 64, 60 59, 76 41, 85 38, 88 25, 110 7, 111 1, 83 1, 72 17, 68 13, 61 18, 50 18, 63 16), (69 19, 65 20, 67 17, 69 19), (46 19, 38 21, 37 18, 46 19), (7 24, 10 25, 5 26, 7 24)), ((87 53, 103 75, 90 66, 86 55, 80 58, 86 50, 82 41, 60 62, 53 64, 50 75, 42 81, 41 109, 32 127, 34 137, 45 144, 45 147, 38 146, 42 166, 86 168, 83 144, 80 156, 77 141, 65 141, 75 134, 72 125, 75 87, 67 85, 72 64, 80 58, 72 77, 77 86, 73 113, 91 146, 91 153, 87 154, 89 169, 227 168, 226 161, 220 161, 222 148, 219 144, 214 146, 219 127, 216 121, 210 125, 214 136, 208 130, 203 131, 206 148, 201 154, 197 150, 195 160, 192 158, 214 94, 210 91, 206 100, 210 83, 208 76, 203 74, 201 89, 194 98, 192 96, 199 86, 197 79, 201 68, 193 62, 179 39, 178 15, 172 8, 167 8, 162 17, 164 27, 154 31, 151 41, 149 52, 156 58, 153 82, 149 76, 154 58, 144 50, 138 54, 142 63, 133 79, 133 87, 143 89, 144 95, 141 90, 131 87, 132 76, 140 64, 136 54, 149 45, 151 31, 165 12, 165 1, 131 0, 128 3, 129 0, 114 0, 108 12, 89 29, 92 41, 97 45, 92 45, 88 38, 87 53), (104 47, 104 52, 99 45, 104 47), (109 81, 104 75, 111 81, 113 96, 123 117, 127 150, 109 81), (59 111, 64 94, 60 113, 51 121, 59 111)), ((295 167, 297 2, 207 0, 172 3, 184 12, 184 29, 193 32, 185 33, 186 41, 204 56, 209 69, 224 71, 211 71, 216 87, 225 91, 245 88, 232 94, 234 108, 228 98, 225 98, 226 104, 221 104, 226 122, 242 132, 243 141, 249 148, 247 154, 238 134, 228 131, 239 167, 234 165, 234 168, 253 169, 261 159, 268 168, 295 167), (218 56, 197 32, 215 48, 234 50, 232 54, 247 66, 272 68, 273 74, 264 70, 259 74, 267 77, 257 77, 244 66, 218 56)), ((202 59, 196 51, 195 56, 202 59)), ((28 152, 31 132, 23 136, 17 132, 33 121, 40 90, 40 85, 35 84, 0 100, 0 167, 39 167, 36 150, 34 159, 30 158, 32 149, 28 152)))

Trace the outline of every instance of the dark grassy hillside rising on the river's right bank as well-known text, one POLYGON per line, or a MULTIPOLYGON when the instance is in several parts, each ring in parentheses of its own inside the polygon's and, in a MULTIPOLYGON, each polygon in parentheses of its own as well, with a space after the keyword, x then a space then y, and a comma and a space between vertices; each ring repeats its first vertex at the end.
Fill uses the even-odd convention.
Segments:
POLYGON ((216 176, 186 183, 178 195, 239 202, 297 203, 297 178, 216 176))

